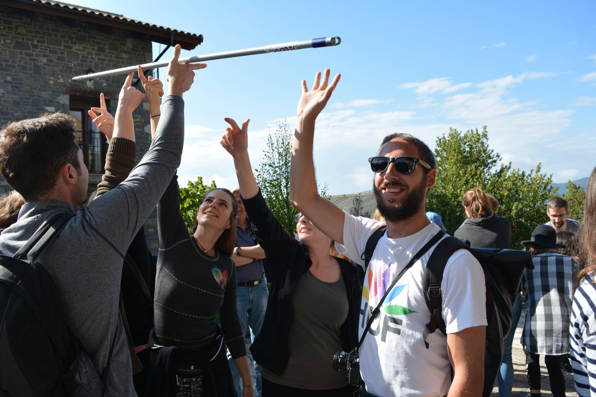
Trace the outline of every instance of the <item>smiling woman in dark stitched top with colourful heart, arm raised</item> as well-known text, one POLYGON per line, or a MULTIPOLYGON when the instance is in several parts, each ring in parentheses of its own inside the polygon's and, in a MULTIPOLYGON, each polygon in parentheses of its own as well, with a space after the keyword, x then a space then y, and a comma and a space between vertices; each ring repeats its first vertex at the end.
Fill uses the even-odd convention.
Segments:
POLYGON ((178 397, 235 396, 227 346, 243 380, 242 395, 252 397, 236 310, 236 268, 229 257, 236 240, 236 199, 226 189, 207 192, 196 214, 194 233, 189 235, 179 210, 176 181, 174 176, 157 207, 159 255, 153 339, 154 345, 178 349, 154 346, 161 356, 153 357, 156 377, 163 377, 160 368, 166 368, 167 392, 178 397), (218 311, 221 329, 215 322, 218 311), (169 354, 173 358, 166 356, 169 354))

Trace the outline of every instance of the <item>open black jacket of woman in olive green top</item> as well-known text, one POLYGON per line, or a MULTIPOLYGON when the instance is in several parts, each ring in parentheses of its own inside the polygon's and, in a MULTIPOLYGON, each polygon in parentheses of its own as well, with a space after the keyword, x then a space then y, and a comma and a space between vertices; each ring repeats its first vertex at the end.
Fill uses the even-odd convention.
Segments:
MULTIPOLYGON (((271 283, 271 291, 269 291, 265 320, 260 334, 250 346, 250 351, 254 361, 280 376, 290 358, 288 339, 294 321, 291 298, 300 276, 309 270, 312 262, 306 246, 290 237, 281 227, 267 207, 260 190, 253 198, 242 200, 257 242, 265 250, 270 264, 268 282, 271 283)), ((341 258, 336 259, 346 283, 349 304, 346 321, 340 329, 343 348, 349 352, 358 343, 362 276, 357 265, 341 258)))

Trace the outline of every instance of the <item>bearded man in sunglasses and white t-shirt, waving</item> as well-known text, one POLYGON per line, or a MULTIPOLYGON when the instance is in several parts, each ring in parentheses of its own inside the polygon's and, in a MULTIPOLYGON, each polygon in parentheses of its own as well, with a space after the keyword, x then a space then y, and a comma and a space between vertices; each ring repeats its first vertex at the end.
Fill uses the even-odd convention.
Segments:
MULTIPOLYGON (((340 79, 337 74, 328 83, 329 76, 328 69, 322 80, 321 73, 317 73, 310 91, 302 81, 291 161, 290 201, 336 241, 338 252, 365 267, 363 253, 367 241, 384 223, 353 217, 321 198, 316 189, 312 158, 315 120, 340 79)), ((387 230, 365 268, 358 324, 362 343, 359 365, 364 381, 360 395, 480 396, 487 324, 486 289, 482 268, 468 251, 456 251, 443 272, 440 293, 446 335, 434 332, 424 337, 430 321, 422 287, 424 269, 436 244, 445 238, 435 237, 440 229, 426 217, 424 206, 437 177, 434 155, 414 136, 394 134, 383 139, 377 155, 369 162, 374 173, 377 208, 386 219, 387 230), (430 249, 418 260, 412 260, 423 246, 430 249), (401 274, 402 270, 406 271, 401 274), (395 280, 398 282, 393 285, 395 280), (380 312, 373 314, 373 308, 383 296, 380 312)))

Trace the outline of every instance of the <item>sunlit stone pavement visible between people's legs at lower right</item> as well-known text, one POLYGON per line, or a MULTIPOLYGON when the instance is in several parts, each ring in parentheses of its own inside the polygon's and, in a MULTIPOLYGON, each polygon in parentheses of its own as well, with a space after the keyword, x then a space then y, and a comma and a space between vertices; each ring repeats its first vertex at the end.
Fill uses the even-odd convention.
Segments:
MULTIPOLYGON (((526 397, 530 393, 527 386, 526 377, 526 354, 523 352, 520 338, 522 337, 522 329, 524 320, 526 318, 526 309, 523 309, 520 322, 517 324, 516 336, 513 340, 513 370, 515 371, 513 376, 513 390, 511 391, 512 397, 526 397)), ((547 367, 544 366, 544 356, 540 357, 540 369, 542 374, 542 396, 551 396, 551 387, 548 382, 547 367)), ((566 394, 569 397, 575 397, 578 393, 575 392, 575 386, 573 384, 573 375, 570 373, 563 372, 565 376, 566 394)), ((493 389, 492 397, 497 397, 499 388, 493 389)))

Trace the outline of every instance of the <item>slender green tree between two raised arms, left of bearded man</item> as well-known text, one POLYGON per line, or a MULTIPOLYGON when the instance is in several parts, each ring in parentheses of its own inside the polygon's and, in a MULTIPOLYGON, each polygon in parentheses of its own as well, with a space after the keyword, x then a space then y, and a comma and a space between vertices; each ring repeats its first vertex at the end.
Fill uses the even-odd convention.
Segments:
MULTIPOLYGON (((254 178, 265 201, 281 226, 293 236, 296 233, 294 215, 296 208, 290 204, 290 161, 294 132, 290 126, 280 121, 275 134, 269 133, 267 146, 263 150, 263 160, 254 170, 254 178)), ((321 196, 327 195, 327 185, 319 189, 321 196)))

